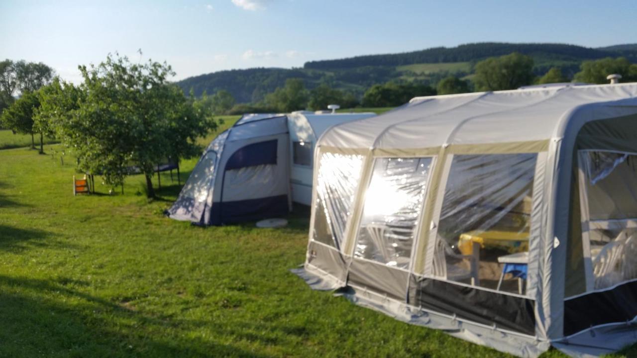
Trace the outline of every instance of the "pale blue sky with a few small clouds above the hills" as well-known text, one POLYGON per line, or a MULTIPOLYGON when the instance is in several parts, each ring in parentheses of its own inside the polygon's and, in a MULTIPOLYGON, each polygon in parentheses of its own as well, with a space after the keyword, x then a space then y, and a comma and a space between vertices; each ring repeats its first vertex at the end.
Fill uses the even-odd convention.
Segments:
POLYGON ((79 64, 118 52, 180 80, 484 41, 637 43, 636 17, 634 0, 0 0, 0 59, 78 82, 79 64))

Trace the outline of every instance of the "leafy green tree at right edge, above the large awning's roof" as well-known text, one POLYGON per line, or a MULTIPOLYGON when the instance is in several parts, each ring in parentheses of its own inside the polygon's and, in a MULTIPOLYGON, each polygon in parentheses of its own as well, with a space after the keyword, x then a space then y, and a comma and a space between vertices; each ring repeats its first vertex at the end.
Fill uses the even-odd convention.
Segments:
POLYGON ((575 80, 586 83, 608 83, 606 76, 619 73, 622 82, 637 81, 637 64, 631 64, 626 57, 606 57, 597 61, 584 61, 582 71, 575 74, 575 80))

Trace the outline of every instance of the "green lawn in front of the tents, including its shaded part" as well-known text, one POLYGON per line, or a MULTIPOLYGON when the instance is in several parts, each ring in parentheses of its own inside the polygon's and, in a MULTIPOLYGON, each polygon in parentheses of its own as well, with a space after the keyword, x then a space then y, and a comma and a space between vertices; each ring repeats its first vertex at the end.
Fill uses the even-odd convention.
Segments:
POLYGON ((74 197, 74 173, 0 150, 2 357, 507 357, 310 290, 289 272, 306 208, 285 229, 194 227, 162 215, 180 190, 167 173, 154 201, 141 176, 74 197))

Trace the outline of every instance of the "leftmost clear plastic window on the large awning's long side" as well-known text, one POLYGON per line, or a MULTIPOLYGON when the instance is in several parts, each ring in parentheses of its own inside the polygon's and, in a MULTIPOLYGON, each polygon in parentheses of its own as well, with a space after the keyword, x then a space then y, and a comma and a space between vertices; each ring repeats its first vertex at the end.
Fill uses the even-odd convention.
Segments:
POLYGON ((313 240, 341 248, 361 179, 362 161, 362 155, 324 153, 320 156, 313 240))

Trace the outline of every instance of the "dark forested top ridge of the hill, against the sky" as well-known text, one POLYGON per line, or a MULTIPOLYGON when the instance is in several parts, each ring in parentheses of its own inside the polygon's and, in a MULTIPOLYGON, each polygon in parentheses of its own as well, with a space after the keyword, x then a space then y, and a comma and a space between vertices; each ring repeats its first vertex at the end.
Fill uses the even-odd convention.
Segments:
POLYGON ((520 52, 543 60, 582 61, 617 56, 617 52, 637 62, 636 45, 617 45, 606 48, 588 48, 560 43, 469 43, 458 47, 434 47, 402 54, 364 55, 347 59, 310 61, 307 69, 357 68, 361 66, 403 66, 419 63, 466 62, 490 56, 520 52))

